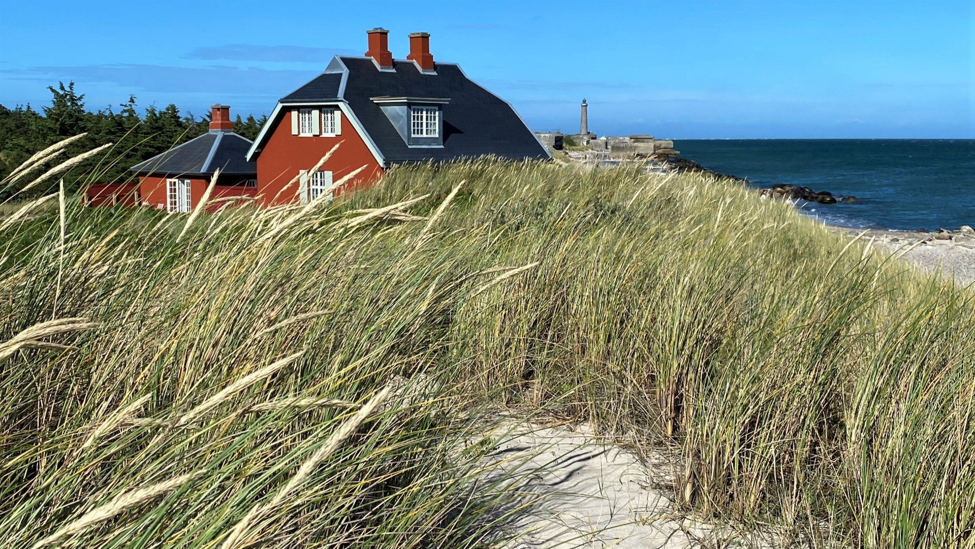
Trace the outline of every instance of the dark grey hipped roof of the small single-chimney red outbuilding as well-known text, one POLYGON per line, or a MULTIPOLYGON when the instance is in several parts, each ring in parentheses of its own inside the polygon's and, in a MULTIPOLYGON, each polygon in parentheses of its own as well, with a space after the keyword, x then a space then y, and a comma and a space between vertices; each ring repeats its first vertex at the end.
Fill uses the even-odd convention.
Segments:
POLYGON ((247 161, 253 141, 233 132, 209 132, 140 162, 129 170, 140 174, 178 176, 224 174, 256 175, 257 163, 247 161))

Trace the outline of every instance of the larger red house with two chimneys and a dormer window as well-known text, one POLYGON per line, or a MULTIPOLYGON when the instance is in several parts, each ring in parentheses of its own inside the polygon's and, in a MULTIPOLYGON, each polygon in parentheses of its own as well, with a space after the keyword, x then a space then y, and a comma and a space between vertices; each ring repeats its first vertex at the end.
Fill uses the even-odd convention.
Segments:
POLYGON ((434 61, 429 34, 410 34, 407 59, 393 59, 388 32, 369 30, 365 57, 335 56, 322 74, 278 101, 247 152, 257 166, 261 204, 331 196, 369 184, 397 164, 551 158, 509 103, 457 64, 434 61), (336 143, 329 160, 310 173, 336 143))

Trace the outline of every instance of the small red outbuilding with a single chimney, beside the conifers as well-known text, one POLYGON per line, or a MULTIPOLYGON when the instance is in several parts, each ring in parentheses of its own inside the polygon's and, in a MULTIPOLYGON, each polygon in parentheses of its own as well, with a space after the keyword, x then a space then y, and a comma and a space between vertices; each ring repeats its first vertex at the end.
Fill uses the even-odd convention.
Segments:
MULTIPOLYGON (((138 200, 167 212, 189 212, 220 174, 209 200, 257 194, 257 169, 246 158, 253 141, 234 134, 230 107, 215 104, 210 132, 130 168, 138 175, 138 200)), ((219 203, 217 203, 219 204, 219 203)))

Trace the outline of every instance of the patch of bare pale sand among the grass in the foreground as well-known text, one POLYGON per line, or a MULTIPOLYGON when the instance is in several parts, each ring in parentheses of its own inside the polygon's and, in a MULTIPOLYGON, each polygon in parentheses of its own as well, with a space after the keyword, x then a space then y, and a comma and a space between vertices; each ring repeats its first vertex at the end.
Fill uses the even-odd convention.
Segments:
POLYGON ((515 476, 509 490, 537 499, 510 525, 519 532, 512 549, 771 546, 678 510, 673 464, 663 453, 644 465, 632 452, 596 441, 584 425, 521 427, 500 437, 490 474, 515 476))

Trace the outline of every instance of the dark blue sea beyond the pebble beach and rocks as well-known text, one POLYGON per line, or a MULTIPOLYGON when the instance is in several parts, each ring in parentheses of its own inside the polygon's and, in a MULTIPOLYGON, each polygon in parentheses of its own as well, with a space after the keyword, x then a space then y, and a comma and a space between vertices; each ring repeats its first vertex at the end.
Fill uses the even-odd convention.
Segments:
POLYGON ((975 139, 683 139, 674 148, 756 188, 786 183, 859 200, 801 206, 827 223, 929 231, 975 226, 975 139))

